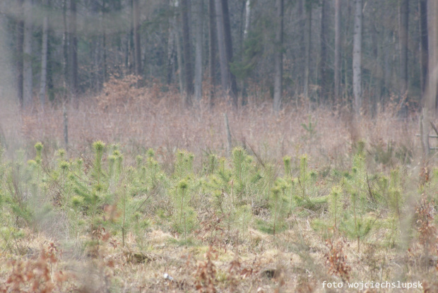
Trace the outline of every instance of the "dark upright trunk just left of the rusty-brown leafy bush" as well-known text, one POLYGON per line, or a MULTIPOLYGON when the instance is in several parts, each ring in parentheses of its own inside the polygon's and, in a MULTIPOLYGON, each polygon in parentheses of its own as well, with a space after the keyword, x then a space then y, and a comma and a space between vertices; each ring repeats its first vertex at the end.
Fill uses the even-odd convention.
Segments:
POLYGON ((69 83, 70 94, 78 102, 78 38, 76 32, 76 1, 70 0, 69 16, 69 83))

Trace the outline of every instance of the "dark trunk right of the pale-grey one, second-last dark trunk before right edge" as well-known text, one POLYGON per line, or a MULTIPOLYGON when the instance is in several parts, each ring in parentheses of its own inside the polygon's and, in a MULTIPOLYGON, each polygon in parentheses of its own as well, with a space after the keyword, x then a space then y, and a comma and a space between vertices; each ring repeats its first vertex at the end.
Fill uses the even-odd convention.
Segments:
POLYGON ((406 95, 408 90, 408 7, 409 0, 400 2, 400 93, 406 95))

